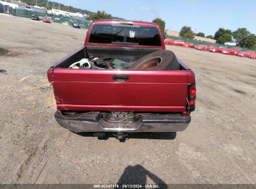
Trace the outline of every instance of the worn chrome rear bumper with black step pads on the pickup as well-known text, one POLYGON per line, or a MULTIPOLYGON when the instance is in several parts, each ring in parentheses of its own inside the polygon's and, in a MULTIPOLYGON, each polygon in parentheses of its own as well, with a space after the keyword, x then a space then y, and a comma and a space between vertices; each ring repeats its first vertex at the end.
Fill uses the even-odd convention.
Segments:
POLYGON ((55 113, 55 119, 60 126, 73 132, 178 132, 184 131, 191 116, 177 114, 143 114, 133 121, 108 122, 99 112, 76 119, 67 120, 55 113))

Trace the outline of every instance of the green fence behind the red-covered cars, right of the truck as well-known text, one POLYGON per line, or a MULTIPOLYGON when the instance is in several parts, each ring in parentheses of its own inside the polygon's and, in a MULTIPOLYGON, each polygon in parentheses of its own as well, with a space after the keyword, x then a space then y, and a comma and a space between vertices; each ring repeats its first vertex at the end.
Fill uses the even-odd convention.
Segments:
POLYGON ((203 40, 195 40, 195 39, 189 39, 189 38, 185 38, 185 37, 176 37, 176 36, 172 36, 172 35, 165 35, 166 39, 174 39, 174 40, 184 40, 184 42, 189 42, 189 43, 193 43, 195 45, 214 45, 216 47, 225 47, 225 48, 234 48, 234 49, 239 49, 241 51, 254 51, 256 52, 256 50, 252 50, 250 48, 242 48, 242 47, 233 47, 233 46, 227 46, 224 44, 214 44, 211 42, 206 42, 203 40))

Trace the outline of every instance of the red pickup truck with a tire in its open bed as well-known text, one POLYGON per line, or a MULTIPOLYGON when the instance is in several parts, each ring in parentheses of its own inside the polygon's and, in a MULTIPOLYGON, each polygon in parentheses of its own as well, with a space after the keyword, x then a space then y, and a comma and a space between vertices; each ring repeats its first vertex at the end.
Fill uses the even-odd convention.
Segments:
POLYGON ((92 22, 83 47, 50 67, 47 76, 55 119, 73 132, 183 131, 195 109, 194 73, 165 50, 153 23, 92 22))

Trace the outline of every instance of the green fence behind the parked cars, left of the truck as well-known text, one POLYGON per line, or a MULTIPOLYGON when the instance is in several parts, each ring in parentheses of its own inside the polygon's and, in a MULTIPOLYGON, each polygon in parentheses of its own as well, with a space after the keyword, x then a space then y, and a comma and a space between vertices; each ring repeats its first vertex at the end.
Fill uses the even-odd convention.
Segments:
POLYGON ((55 14, 47 14, 43 12, 36 12, 29 9, 12 9, 10 7, 10 14, 13 16, 20 16, 20 17, 31 17, 32 15, 39 16, 40 19, 43 17, 49 17, 51 20, 54 20, 56 23, 70 25, 71 22, 77 22, 81 28, 90 27, 91 22, 87 21, 85 18, 80 17, 67 17, 67 16, 60 16, 55 14))

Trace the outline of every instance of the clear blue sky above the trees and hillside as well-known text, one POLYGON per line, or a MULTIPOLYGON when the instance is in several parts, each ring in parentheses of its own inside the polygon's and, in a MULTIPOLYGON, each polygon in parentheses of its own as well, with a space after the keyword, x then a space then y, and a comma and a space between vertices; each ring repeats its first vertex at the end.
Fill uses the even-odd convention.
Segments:
POLYGON ((124 19, 151 22, 160 17, 166 29, 179 31, 184 25, 195 32, 214 35, 219 27, 232 31, 246 27, 256 34, 255 0, 54 0, 62 4, 87 9, 106 11, 124 19))

